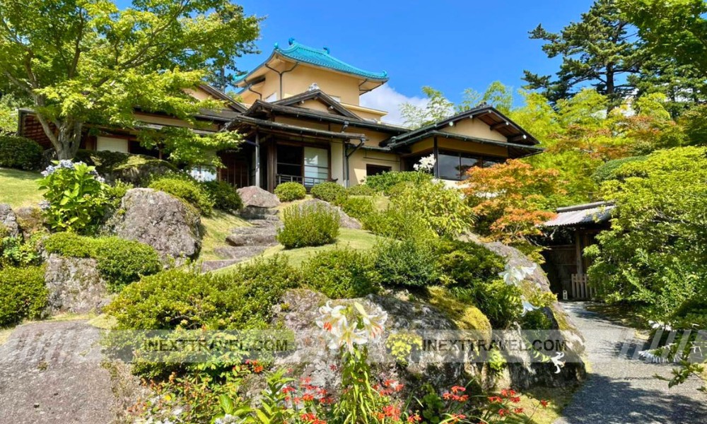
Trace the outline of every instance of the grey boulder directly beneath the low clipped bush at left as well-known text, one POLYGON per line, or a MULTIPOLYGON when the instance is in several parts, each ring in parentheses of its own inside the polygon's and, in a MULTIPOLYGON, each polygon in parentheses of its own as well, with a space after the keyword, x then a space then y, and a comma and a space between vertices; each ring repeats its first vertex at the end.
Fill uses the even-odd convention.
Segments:
POLYGON ((45 268, 49 290, 49 313, 100 312, 108 290, 95 259, 49 255, 45 268))

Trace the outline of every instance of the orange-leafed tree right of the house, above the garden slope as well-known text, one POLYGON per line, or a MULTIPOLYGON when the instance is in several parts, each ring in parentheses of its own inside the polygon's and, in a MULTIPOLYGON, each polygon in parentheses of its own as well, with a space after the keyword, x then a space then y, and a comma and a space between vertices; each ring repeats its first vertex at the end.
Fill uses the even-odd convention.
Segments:
POLYGON ((537 225, 554 217, 551 210, 565 194, 558 175, 521 160, 469 169, 463 190, 477 215, 477 232, 540 259, 530 237, 541 234, 537 225))

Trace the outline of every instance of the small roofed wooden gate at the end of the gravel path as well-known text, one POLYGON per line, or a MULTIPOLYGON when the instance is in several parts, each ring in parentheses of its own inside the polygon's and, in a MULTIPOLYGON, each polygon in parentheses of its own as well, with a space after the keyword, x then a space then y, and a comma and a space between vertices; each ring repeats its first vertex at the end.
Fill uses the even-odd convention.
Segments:
POLYGON ((610 227, 614 205, 595 202, 558 208, 557 216, 543 224, 551 230, 544 239, 544 271, 551 289, 568 298, 586 300, 597 296, 587 277, 590 261, 583 256, 584 249, 595 243, 596 235, 610 227))

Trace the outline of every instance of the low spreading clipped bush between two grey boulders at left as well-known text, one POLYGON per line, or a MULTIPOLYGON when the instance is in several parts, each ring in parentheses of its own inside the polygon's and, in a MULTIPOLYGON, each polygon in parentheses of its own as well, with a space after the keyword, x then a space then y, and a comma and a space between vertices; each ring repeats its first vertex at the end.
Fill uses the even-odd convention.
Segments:
POLYGON ((153 247, 119 237, 81 237, 69 232, 57 232, 44 241, 45 250, 64 257, 93 258, 108 288, 119 291, 141 276, 162 269, 153 247))

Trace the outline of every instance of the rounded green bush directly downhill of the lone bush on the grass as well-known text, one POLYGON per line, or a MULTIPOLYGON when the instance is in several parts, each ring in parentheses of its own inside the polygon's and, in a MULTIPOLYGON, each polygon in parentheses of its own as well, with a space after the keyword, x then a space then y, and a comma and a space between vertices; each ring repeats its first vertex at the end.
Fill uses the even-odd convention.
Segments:
POLYGON ((332 299, 361 298, 378 291, 373 258, 354 249, 320 252, 303 264, 305 285, 332 299))

